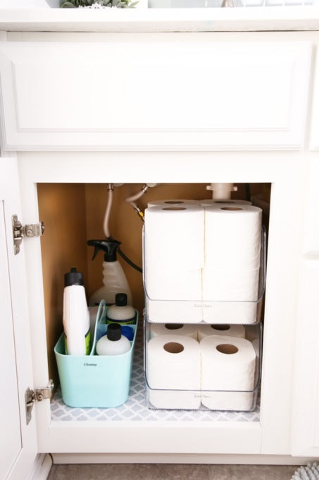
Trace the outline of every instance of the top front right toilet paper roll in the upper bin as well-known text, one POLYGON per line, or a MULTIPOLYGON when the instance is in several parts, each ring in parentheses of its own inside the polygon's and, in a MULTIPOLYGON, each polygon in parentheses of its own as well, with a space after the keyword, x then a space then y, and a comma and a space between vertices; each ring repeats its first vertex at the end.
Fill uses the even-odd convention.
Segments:
POLYGON ((205 265, 218 270, 260 266, 261 208, 224 203, 205 207, 205 265))

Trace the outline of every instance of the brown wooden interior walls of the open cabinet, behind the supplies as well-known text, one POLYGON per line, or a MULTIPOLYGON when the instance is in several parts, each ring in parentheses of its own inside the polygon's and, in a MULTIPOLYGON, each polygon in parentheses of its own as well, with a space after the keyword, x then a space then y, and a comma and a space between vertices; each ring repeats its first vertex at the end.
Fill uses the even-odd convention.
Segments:
MULTIPOLYGON (((151 200, 212 198, 208 184, 154 184, 136 204, 144 212, 151 200)), ((125 199, 140 192, 144 184, 115 184, 109 218, 109 230, 120 248, 135 265, 142 268, 143 220, 125 199)), ((237 191, 232 199, 251 200, 263 209, 263 225, 268 230, 270 184, 234 184, 237 191)), ((63 288, 65 272, 75 266, 83 273, 87 301, 102 285, 103 253, 92 260, 94 249, 89 239, 104 239, 104 215, 108 200, 108 184, 37 184, 39 220, 44 222, 45 234, 41 239, 46 342, 49 378, 54 380, 56 402, 62 402, 58 390, 59 380, 54 346, 63 332, 63 288)), ((135 395, 144 396, 143 372, 143 311, 144 287, 142 273, 118 255, 118 260, 130 284, 132 304, 139 312, 139 339, 135 346, 132 383, 135 395), (136 369, 136 371, 135 371, 136 369), (141 389, 138 392, 139 388, 141 389)), ((67 409, 70 412, 70 408, 67 409)), ((212 413, 212 412, 210 412, 212 413)), ((254 419, 254 414, 253 419, 254 419)), ((68 415, 66 415, 68 416, 68 415)), ((251 417, 248 417, 251 419, 251 417)))

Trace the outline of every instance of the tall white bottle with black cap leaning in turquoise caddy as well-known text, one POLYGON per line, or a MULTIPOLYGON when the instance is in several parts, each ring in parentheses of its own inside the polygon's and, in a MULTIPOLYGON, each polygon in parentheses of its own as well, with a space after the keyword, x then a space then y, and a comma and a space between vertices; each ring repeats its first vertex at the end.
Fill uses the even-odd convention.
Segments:
POLYGON ((72 267, 64 275, 63 328, 65 353, 88 355, 90 347, 89 309, 83 275, 72 267))

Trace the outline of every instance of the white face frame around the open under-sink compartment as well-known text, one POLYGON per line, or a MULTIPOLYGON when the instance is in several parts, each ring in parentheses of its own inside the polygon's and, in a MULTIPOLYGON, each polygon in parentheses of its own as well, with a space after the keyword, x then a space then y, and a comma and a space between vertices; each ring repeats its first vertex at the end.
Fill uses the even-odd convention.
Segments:
MULTIPOLYGON (((122 421, 96 421, 93 416, 93 419, 84 422, 72 419, 69 412, 69 416, 64 416, 64 419, 59 421, 57 418, 51 419, 49 405, 42 402, 36 405, 39 449, 42 452, 58 454, 72 452, 74 455, 80 452, 104 452, 108 455, 134 453, 146 455, 145 458, 147 455, 161 454, 172 459, 176 455, 184 455, 184 461, 187 461, 186 455, 198 455, 203 461, 218 454, 290 455, 293 340, 296 322, 296 305, 292 301, 291 292, 296 292, 298 285, 298 254, 301 243, 300 229, 296 229, 292 236, 291 226, 301 223, 303 210, 300 199, 296 197, 289 200, 287 208, 287 198, 291 197, 291 185, 297 183, 300 196, 304 196, 303 155, 288 152, 271 155, 256 155, 254 152, 196 152, 194 157, 192 152, 154 152, 150 161, 147 152, 135 152, 133 155, 127 155, 127 152, 24 152, 19 154, 18 158, 23 217, 30 219, 30 222, 39 220, 38 202, 50 201, 49 196, 37 199, 35 186, 48 183, 53 184, 53 188, 54 184, 59 183, 89 183, 90 188, 94 188, 94 184, 99 184, 101 179, 140 184, 143 178, 146 181, 156 179, 158 183, 173 184, 178 181, 185 184, 207 184, 207 179, 212 178, 216 181, 229 180, 231 174, 235 183, 268 182, 272 187, 260 413, 251 419, 242 416, 242 419, 236 420, 233 420, 232 416, 218 419, 212 414, 204 420, 197 419, 195 415, 194 418, 188 416, 172 421, 163 416, 156 418, 154 413, 148 418, 141 414, 138 421, 136 417, 132 420, 128 417, 122 421), (280 401, 274 404, 274 397, 280 401), (104 441, 106 437, 112 438, 108 445, 104 441)), ((74 198, 72 202, 76 203, 74 198)), ((56 206, 53 205, 52 209, 58 212, 58 217, 51 223, 52 227, 58 227, 58 221, 67 225, 59 205, 56 198, 56 206)), ((91 217, 93 212, 89 212, 91 217)), ((49 222, 49 218, 46 220, 49 222)), ((46 229, 44 237, 47 237, 43 237, 43 242, 50 242, 51 235, 54 241, 51 228, 46 229)), ((140 228, 137 218, 135 229, 140 228)), ((78 240, 73 229, 66 229, 65 236, 74 236, 74 242, 78 240)), ((24 248, 27 270, 30 270, 31 275, 28 292, 30 317, 33 328, 37 330, 37 337, 32 339, 35 342, 33 358, 37 365, 37 384, 43 384, 48 376, 47 365, 42 361, 46 354, 43 347, 44 337, 39 335, 45 316, 41 274, 44 267, 39 258, 37 239, 35 243, 31 240, 25 242, 24 248)), ((61 246, 54 242, 52 248, 54 258, 51 260, 58 264, 63 259, 61 246)), ((51 283, 54 285, 56 282, 58 278, 51 283)), ((58 296, 58 291, 54 296, 58 296)))

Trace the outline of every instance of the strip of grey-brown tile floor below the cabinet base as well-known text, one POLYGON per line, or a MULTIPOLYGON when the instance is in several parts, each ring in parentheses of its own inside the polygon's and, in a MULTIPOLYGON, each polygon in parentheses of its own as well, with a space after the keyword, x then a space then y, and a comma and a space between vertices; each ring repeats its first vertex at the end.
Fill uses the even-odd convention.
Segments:
POLYGON ((54 464, 47 480, 290 480, 298 466, 54 464))

